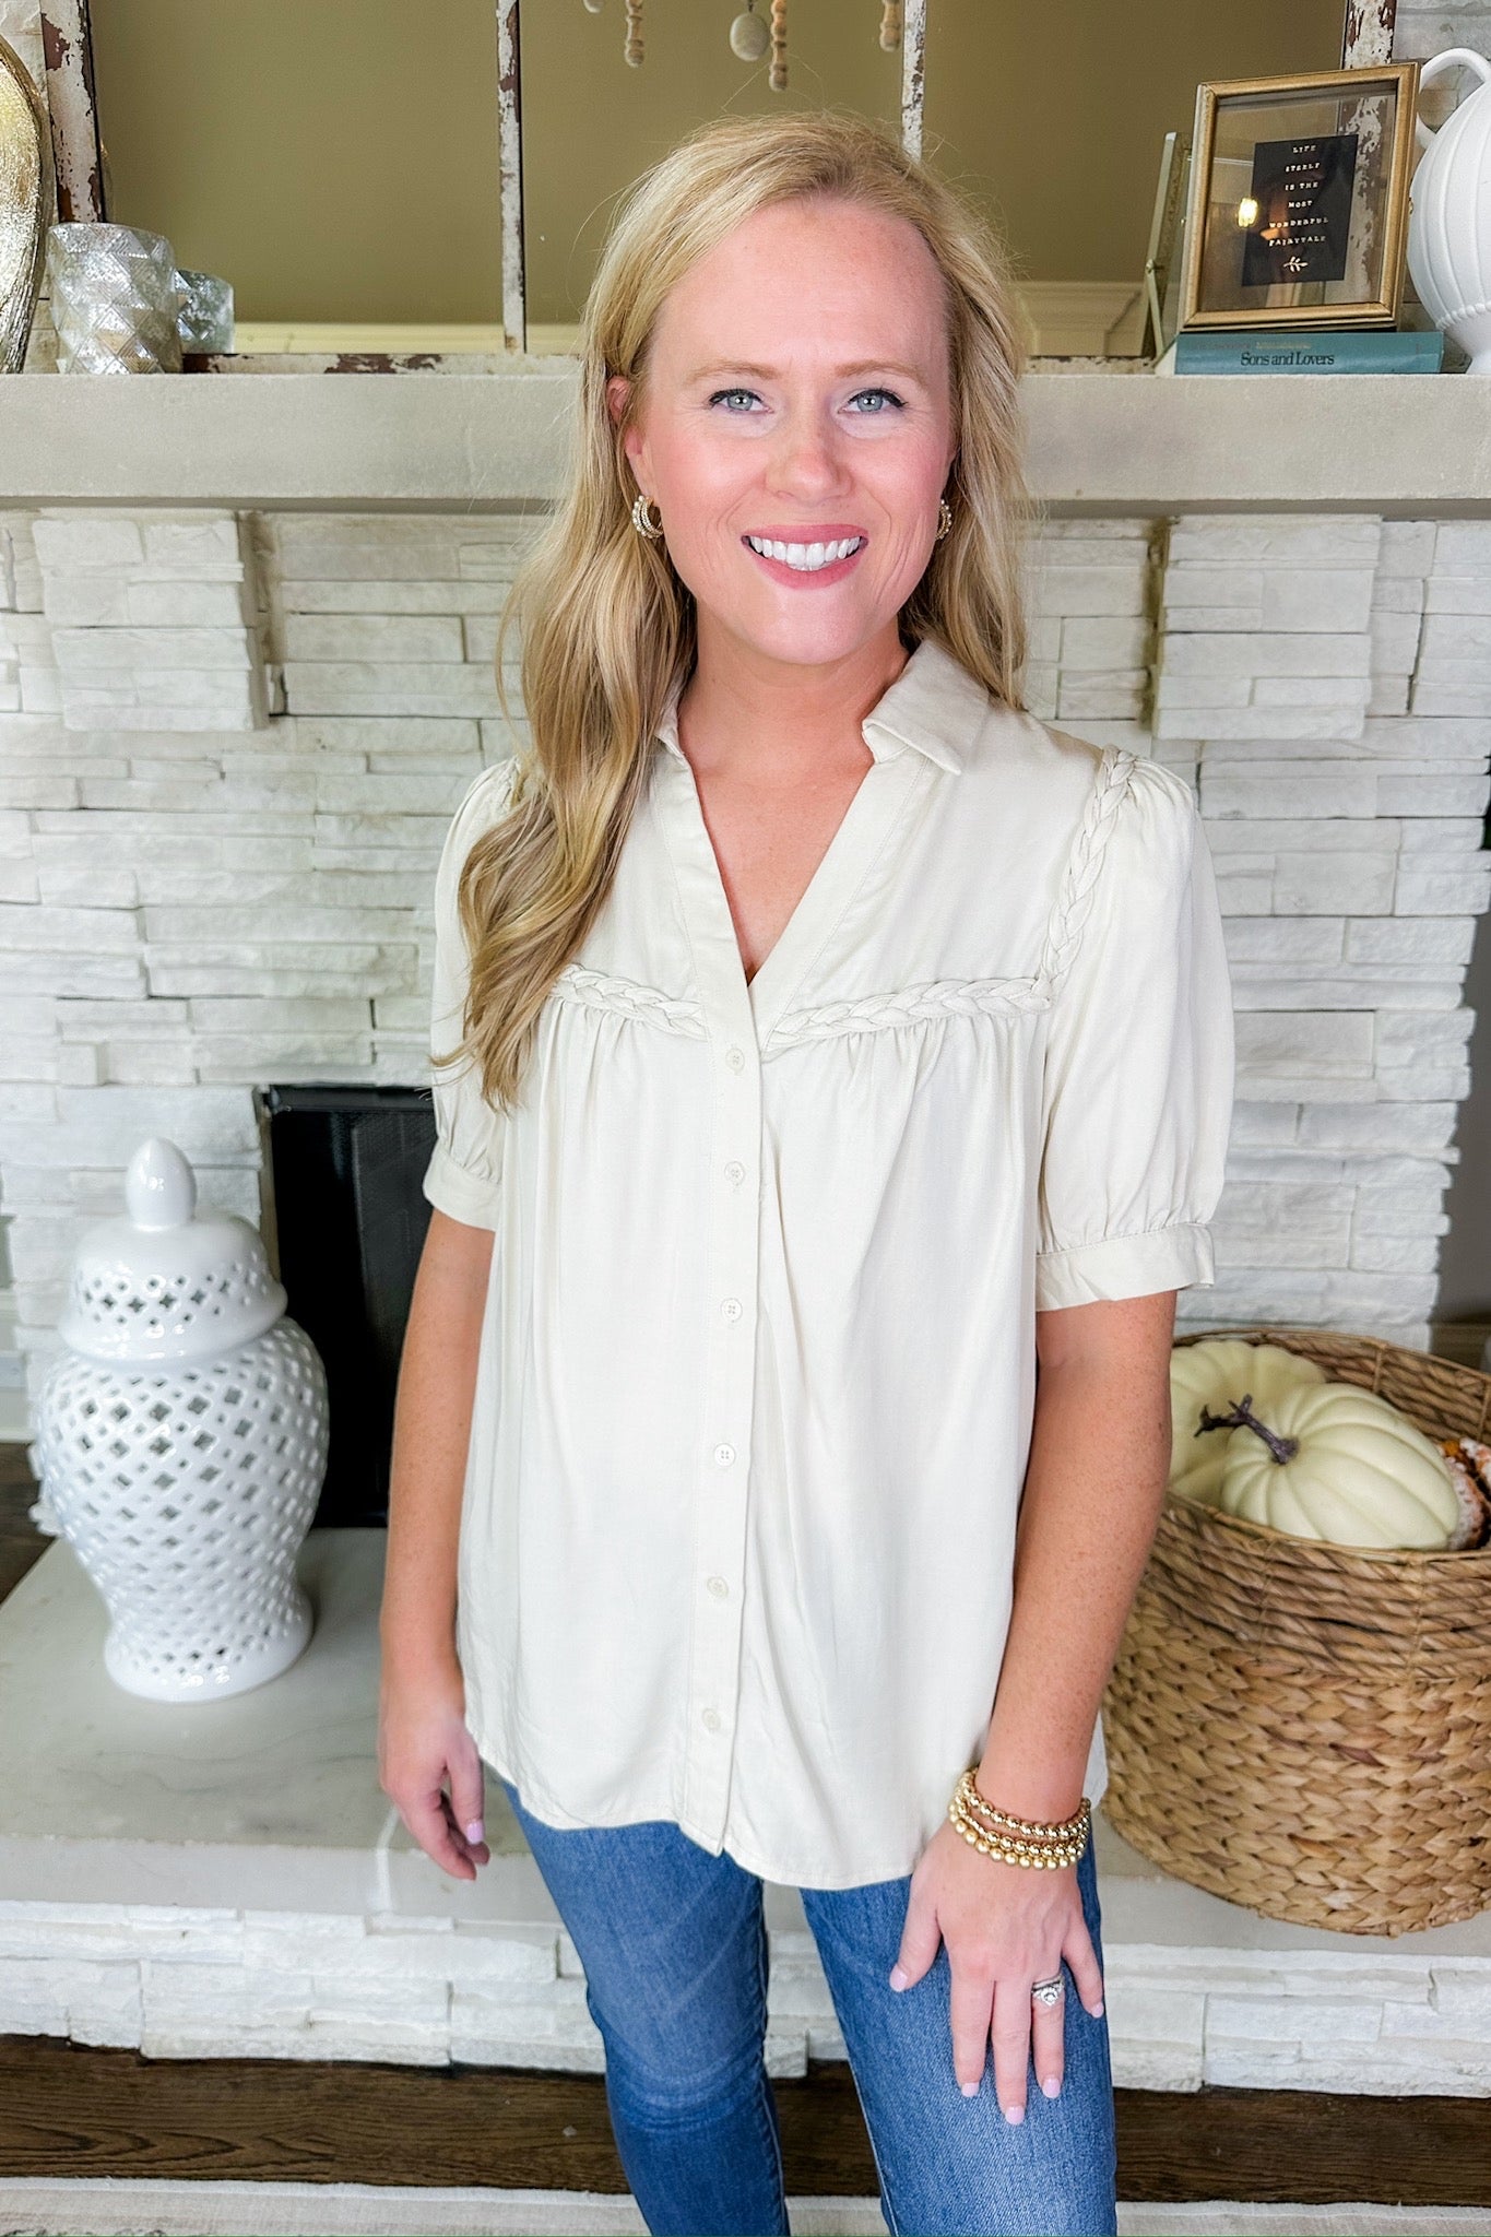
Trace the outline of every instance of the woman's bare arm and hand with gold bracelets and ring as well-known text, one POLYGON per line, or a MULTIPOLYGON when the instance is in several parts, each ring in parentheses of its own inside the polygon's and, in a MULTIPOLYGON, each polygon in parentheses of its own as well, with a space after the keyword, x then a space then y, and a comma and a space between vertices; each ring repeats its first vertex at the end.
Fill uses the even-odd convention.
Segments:
MULTIPOLYGON (((1174 1291, 1035 1315, 1015 1602, 975 1774, 1013 1816, 1066 1819, 1082 1801, 1098 1705, 1165 1501, 1174 1322, 1174 1291)), ((912 1872, 892 1986, 912 1986, 939 1942, 952 1969, 955 2076, 963 2092, 979 2085, 993 2033, 999 2105, 1024 2121, 1031 2056, 1046 2096, 1064 2067, 1064 2009, 1033 2009, 1033 1982, 1066 1960, 1086 2009, 1102 2011, 1077 1868, 1019 1870, 939 1825, 912 1872)))

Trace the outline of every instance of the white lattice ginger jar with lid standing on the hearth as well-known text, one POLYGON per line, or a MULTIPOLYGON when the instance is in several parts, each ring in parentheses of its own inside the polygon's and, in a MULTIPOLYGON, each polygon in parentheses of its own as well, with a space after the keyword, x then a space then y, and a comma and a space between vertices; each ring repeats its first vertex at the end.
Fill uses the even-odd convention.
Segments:
POLYGON ((110 1678, 224 1700, 311 1640, 295 1559, 326 1470, 326 1376, 255 1228, 197 1215, 172 1141, 141 1143, 125 1204, 78 1246, 36 1465, 110 1611, 110 1678))

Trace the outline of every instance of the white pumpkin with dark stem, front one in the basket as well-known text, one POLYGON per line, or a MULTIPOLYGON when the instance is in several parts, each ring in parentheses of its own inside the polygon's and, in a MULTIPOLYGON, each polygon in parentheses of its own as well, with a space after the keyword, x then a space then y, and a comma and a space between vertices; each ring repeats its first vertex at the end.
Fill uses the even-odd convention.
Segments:
MULTIPOLYGON (((1234 1407, 1232 1412, 1243 1412, 1234 1407)), ((1460 1499, 1437 1445, 1355 1382, 1297 1382, 1227 1434, 1227 1514, 1337 1546, 1449 1546, 1460 1499)), ((1223 1436, 1225 1432, 1214 1432, 1223 1436)))

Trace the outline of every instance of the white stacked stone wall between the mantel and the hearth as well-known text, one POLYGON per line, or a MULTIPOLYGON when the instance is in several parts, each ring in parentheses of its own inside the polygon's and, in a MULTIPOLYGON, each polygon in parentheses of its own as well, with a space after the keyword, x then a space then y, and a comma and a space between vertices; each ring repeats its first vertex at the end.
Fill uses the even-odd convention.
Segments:
MULTIPOLYGON (((145 1134, 257 1217, 255 1089, 425 1078, 438 846, 521 736, 492 655, 528 535, 0 515, 0 1210, 34 1382, 145 1134)), ((1183 1324, 1426 1344, 1491 890, 1491 521, 1055 521, 1028 698, 1185 772, 1216 859, 1238 1101, 1183 1324)))

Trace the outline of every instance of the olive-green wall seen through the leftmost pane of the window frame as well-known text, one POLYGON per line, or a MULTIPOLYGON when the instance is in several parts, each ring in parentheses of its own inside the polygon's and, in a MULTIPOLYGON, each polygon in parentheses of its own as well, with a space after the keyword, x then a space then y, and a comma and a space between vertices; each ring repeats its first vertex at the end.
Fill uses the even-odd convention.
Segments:
POLYGON ((246 320, 501 320, 492 0, 92 0, 110 217, 246 320))

